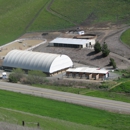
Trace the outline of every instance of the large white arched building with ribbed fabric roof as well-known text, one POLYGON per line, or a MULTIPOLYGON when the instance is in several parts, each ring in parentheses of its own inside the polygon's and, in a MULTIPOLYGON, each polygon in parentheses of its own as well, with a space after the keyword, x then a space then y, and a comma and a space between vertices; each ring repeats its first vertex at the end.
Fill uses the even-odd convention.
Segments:
POLYGON ((67 55, 12 50, 4 58, 3 67, 41 70, 55 73, 73 66, 67 55))

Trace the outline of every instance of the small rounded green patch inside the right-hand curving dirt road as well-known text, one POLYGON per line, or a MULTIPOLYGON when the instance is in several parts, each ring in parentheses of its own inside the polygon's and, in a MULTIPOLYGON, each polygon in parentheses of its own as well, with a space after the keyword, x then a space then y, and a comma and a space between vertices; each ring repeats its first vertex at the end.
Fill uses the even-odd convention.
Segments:
POLYGON ((126 30, 122 35, 121 35, 121 41, 130 46, 130 29, 126 30))

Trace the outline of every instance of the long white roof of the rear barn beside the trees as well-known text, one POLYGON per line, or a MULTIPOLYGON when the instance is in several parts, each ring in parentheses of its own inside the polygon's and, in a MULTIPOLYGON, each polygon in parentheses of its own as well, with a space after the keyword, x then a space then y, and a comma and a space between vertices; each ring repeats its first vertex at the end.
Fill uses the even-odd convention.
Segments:
POLYGON ((73 39, 73 38, 55 38, 50 43, 83 45, 89 42, 91 42, 91 40, 73 39))

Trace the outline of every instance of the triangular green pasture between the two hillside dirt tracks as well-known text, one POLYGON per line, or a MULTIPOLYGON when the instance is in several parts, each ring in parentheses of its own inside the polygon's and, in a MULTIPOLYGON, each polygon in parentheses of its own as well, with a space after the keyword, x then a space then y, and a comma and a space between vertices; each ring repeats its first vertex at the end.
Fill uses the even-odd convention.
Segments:
POLYGON ((46 9, 43 9, 27 31, 54 31, 69 28, 72 26, 74 26, 74 24, 49 13, 46 11, 46 9))

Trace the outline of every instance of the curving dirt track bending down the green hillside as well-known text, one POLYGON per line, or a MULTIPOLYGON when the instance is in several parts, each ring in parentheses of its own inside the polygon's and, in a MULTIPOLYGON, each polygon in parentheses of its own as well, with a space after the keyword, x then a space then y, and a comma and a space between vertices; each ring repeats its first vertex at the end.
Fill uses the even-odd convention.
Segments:
POLYGON ((51 13, 51 14, 53 14, 53 15, 55 15, 55 16, 57 16, 57 17, 63 19, 63 20, 65 20, 65 21, 67 21, 67 22, 69 22, 69 23, 72 23, 72 24, 74 24, 74 25, 77 25, 77 23, 72 22, 72 21, 71 21, 70 19, 68 19, 67 17, 65 17, 65 16, 61 15, 60 13, 58 13, 58 12, 52 10, 50 7, 51 7, 51 5, 53 4, 53 2, 54 2, 54 0, 51 0, 51 1, 46 5, 46 10, 47 10, 49 13, 51 13))

